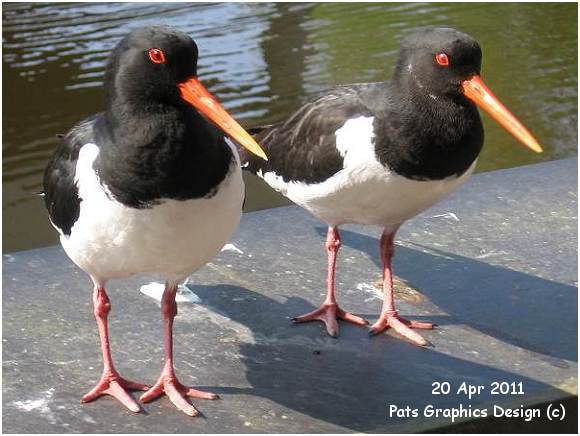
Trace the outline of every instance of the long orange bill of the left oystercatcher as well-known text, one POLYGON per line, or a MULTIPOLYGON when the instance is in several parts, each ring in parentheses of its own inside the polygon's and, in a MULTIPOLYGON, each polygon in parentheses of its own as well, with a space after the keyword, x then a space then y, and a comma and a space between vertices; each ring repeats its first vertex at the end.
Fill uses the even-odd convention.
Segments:
POLYGON ((196 77, 178 85, 181 98, 193 105, 198 111, 213 121, 228 136, 243 147, 264 160, 268 160, 264 150, 252 136, 240 126, 236 120, 222 107, 213 95, 203 86, 196 77))

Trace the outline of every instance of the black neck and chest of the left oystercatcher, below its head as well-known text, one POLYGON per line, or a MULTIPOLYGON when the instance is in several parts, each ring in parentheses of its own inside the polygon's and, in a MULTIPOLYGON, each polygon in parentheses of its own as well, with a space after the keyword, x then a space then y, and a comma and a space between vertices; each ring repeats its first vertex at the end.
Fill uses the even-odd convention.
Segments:
POLYGON ((96 126, 97 170, 119 201, 142 207, 160 198, 199 198, 223 180, 232 152, 195 109, 120 107, 96 126))

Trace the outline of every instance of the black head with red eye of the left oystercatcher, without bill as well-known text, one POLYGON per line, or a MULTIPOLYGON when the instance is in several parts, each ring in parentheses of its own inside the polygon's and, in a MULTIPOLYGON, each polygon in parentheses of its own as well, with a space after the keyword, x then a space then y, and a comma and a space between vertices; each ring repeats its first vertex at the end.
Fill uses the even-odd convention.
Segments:
POLYGON ((165 26, 143 27, 113 50, 105 89, 109 104, 182 103, 178 84, 197 75, 197 45, 165 26))

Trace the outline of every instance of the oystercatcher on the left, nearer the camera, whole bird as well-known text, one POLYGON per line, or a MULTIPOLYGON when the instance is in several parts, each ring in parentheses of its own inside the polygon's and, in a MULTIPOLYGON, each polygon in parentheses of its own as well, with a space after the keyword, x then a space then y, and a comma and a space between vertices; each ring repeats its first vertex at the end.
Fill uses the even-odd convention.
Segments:
POLYGON ((50 221, 68 256, 94 284, 104 370, 82 402, 108 394, 138 412, 127 390, 147 390, 142 401, 165 393, 194 416, 198 412, 186 397, 217 398, 185 387, 175 376, 176 289, 220 250, 240 219, 244 184, 228 136, 265 155, 201 85, 197 55, 195 42, 172 28, 129 33, 106 68, 105 111, 64 136, 44 174, 50 221), (111 304, 105 284, 138 273, 158 274, 166 283, 165 365, 151 388, 119 375, 107 331, 111 304))

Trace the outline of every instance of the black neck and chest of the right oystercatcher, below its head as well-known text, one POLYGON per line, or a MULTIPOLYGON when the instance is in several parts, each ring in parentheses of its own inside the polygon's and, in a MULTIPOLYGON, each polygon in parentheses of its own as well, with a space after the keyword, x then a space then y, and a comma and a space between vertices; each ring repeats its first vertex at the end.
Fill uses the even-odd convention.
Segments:
POLYGON ((377 120, 376 151, 383 165, 418 180, 463 174, 483 145, 476 107, 466 99, 430 94, 390 82, 377 120))

